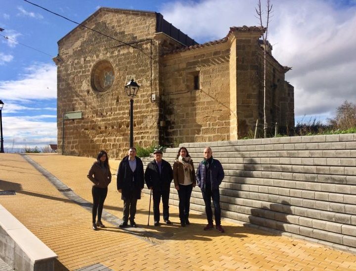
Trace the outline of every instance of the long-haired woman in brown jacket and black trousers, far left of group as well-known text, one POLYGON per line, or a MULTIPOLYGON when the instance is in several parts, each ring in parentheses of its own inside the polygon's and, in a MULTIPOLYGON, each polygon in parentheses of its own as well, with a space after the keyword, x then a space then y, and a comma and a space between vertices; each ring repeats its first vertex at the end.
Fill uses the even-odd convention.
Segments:
POLYGON ((109 157, 106 151, 101 150, 98 153, 96 161, 92 164, 87 177, 93 183, 91 188, 91 194, 93 197, 92 228, 93 230, 97 230, 98 226, 105 227, 101 223, 101 213, 107 195, 107 187, 111 182, 109 157), (96 213, 97 221, 95 223, 96 213))

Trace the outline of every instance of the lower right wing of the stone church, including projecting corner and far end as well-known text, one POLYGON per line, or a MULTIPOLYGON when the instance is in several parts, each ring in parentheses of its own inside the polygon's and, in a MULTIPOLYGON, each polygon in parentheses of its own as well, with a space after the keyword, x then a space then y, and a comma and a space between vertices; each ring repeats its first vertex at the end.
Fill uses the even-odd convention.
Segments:
MULTIPOLYGON (((166 118, 165 142, 236 140, 264 122, 264 61, 261 31, 232 32, 213 46, 163 57, 161 86, 166 118), (199 90, 192 77, 199 75, 199 90)), ((266 108, 269 133, 294 127, 293 86, 287 69, 267 54, 266 108)))

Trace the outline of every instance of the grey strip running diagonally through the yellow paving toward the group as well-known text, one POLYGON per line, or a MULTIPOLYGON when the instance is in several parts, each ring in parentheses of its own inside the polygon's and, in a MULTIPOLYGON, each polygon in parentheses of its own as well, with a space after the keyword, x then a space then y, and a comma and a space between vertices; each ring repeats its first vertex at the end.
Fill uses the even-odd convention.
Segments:
MULTIPOLYGON (((47 171, 44 167, 42 167, 40 164, 38 164, 36 161, 34 161, 31 157, 29 157, 27 154, 21 154, 27 162, 29 162, 36 170, 38 170, 54 187, 57 188, 57 190, 64 195, 66 198, 72 200, 74 203, 78 204, 79 206, 83 207, 87 211, 91 212, 92 211, 92 203, 85 200, 81 196, 77 195, 70 187, 68 187, 65 183, 60 181, 57 177, 55 177, 53 174, 51 174, 49 171, 47 171)), ((103 210, 102 211, 102 216, 104 220, 107 222, 113 224, 114 226, 117 226, 119 228, 119 225, 123 222, 122 219, 110 214, 109 212, 103 210)), ((122 230, 128 231, 135 235, 136 237, 149 242, 153 245, 159 245, 162 244, 162 241, 166 240, 164 236, 160 236, 156 233, 147 231, 143 228, 137 227, 137 228, 120 228, 122 230), (152 238, 155 238, 157 240, 152 240, 152 238)))

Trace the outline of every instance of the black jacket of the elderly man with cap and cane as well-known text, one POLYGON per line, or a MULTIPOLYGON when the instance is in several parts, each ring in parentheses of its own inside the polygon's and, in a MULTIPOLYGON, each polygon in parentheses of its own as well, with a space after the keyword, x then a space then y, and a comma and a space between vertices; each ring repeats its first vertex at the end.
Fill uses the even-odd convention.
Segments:
POLYGON ((169 189, 173 180, 173 170, 167 161, 162 159, 161 174, 158 170, 158 165, 155 160, 149 162, 146 167, 145 181, 147 187, 153 187, 153 189, 169 189))

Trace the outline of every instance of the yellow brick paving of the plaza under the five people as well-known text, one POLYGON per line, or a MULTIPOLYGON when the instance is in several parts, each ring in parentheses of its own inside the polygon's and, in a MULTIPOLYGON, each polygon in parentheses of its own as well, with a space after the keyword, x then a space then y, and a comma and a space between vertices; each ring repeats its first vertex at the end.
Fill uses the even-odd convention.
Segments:
MULTIPOLYGON (((87 179, 92 158, 28 157, 92 201, 87 179)), ((111 161, 113 173, 117 165, 118 161, 111 161)), ((206 219, 195 212, 190 215, 191 225, 181 228, 175 206, 170 208, 173 225, 155 227, 151 216, 147 226, 147 194, 137 204, 139 229, 123 230, 114 221, 105 221, 106 228, 93 231, 91 213, 59 192, 19 154, 0 154, 0 190, 16 191, 0 196, 0 204, 58 255, 56 270, 95 264, 112 270, 356 270, 356 255, 231 221, 223 220, 223 234, 204 231, 206 219)), ((114 176, 104 210, 119 220, 122 207, 114 176)))

